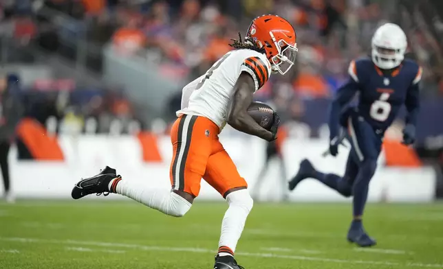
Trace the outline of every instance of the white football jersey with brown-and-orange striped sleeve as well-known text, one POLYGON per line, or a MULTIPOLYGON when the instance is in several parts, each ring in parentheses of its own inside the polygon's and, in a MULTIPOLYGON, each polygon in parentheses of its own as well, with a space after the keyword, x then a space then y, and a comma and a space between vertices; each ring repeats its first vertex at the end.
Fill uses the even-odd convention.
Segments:
POLYGON ((228 103, 241 72, 247 72, 258 91, 271 74, 271 65, 264 54, 252 49, 237 49, 220 58, 208 71, 182 91, 182 114, 210 119, 220 130, 226 125, 228 103))

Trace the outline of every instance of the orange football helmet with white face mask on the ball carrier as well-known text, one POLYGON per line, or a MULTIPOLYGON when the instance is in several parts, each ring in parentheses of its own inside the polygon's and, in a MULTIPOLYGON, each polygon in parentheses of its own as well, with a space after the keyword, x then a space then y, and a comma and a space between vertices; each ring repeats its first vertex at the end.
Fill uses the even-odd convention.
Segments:
POLYGON ((297 49, 294 27, 277 15, 263 15, 252 20, 245 43, 252 43, 266 52, 272 71, 282 75, 294 65, 297 49))

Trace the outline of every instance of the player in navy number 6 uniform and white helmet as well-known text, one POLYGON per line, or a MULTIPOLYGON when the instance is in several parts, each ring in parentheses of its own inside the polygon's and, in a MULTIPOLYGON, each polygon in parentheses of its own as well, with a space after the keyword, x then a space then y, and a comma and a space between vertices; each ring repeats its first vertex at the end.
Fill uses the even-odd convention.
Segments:
POLYGON ((369 181, 376 171, 385 130, 396 119, 404 104, 407 108, 403 143, 415 140, 415 125, 419 109, 418 82, 422 68, 405 60, 407 38, 402 29, 386 23, 372 38, 371 59, 353 60, 349 65, 349 80, 338 89, 329 113, 329 153, 338 154, 342 128, 352 144, 344 176, 324 174, 303 160, 299 172, 290 180, 292 190, 305 178, 316 178, 345 197, 353 196, 353 220, 347 233, 349 242, 358 246, 374 246, 376 240, 363 228, 363 211, 369 181), (349 106, 358 95, 358 104, 349 106))

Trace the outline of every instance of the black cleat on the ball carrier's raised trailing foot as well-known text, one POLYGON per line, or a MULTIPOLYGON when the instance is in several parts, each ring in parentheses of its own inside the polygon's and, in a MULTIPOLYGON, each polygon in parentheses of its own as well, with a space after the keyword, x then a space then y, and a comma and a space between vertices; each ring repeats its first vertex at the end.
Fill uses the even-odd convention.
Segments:
POLYGON ((80 199, 89 194, 103 194, 104 196, 109 195, 109 182, 114 178, 118 178, 116 169, 113 169, 109 166, 102 169, 100 173, 96 176, 92 176, 91 178, 85 178, 80 180, 72 189, 71 196, 74 199, 80 199))

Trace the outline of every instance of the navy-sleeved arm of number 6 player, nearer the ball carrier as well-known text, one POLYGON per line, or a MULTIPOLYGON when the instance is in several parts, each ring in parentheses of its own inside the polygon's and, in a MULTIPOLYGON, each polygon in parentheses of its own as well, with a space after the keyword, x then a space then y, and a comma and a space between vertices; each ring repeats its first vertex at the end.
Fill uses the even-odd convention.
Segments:
POLYGON ((340 132, 340 116, 343 108, 351 102, 358 91, 358 77, 356 75, 355 62, 349 65, 349 79, 341 86, 332 100, 329 108, 329 139, 338 137, 340 132))

